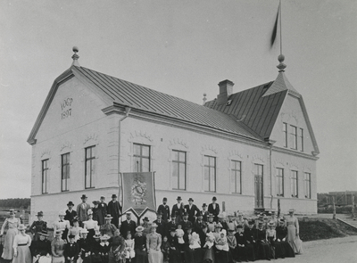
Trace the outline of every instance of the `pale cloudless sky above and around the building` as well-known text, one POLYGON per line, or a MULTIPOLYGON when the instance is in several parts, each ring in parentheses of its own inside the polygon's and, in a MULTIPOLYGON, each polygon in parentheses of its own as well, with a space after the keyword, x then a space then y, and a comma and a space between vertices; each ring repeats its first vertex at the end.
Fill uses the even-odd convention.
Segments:
MULTIPOLYGON (((79 64, 195 103, 277 78, 278 0, 0 0, 0 199, 30 195, 29 132, 79 64)), ((286 77, 320 147, 318 192, 357 190, 357 2, 283 0, 286 77)))

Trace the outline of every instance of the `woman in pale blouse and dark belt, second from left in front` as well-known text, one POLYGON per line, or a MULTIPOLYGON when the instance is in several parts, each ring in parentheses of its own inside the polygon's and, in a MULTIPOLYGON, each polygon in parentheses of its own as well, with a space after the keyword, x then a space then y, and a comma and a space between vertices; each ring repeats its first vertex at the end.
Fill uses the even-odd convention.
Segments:
POLYGON ((21 224, 18 229, 20 234, 16 234, 13 239, 12 263, 32 263, 31 251, 29 251, 31 238, 29 234, 25 234, 26 227, 24 225, 21 224))

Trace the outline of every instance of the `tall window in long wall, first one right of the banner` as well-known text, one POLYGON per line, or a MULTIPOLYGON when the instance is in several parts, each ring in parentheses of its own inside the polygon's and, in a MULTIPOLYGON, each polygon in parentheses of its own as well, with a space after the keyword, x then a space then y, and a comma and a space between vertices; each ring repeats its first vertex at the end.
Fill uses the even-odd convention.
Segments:
POLYGON ((172 150, 172 189, 186 190, 186 152, 172 150))

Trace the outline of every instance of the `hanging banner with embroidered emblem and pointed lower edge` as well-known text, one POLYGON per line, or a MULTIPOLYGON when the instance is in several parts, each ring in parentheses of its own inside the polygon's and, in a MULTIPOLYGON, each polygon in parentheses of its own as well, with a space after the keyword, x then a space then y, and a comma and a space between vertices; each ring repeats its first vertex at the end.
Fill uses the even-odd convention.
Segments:
POLYGON ((156 210, 154 172, 122 173, 122 211, 133 210, 140 217, 145 210, 156 210))

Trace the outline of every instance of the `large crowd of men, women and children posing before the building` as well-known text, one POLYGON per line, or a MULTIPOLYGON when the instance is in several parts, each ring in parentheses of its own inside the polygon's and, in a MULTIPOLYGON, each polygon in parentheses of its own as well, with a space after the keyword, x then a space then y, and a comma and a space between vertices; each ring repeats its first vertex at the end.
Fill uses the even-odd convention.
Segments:
POLYGON ((3 235, 7 228, 2 258, 13 263, 234 263, 295 257, 298 252, 294 210, 286 218, 277 218, 274 211, 270 217, 245 218, 239 211, 220 212, 216 197, 199 210, 192 198, 184 205, 179 196, 171 210, 163 198, 156 219, 145 217, 137 226, 130 212, 120 222, 115 194, 108 205, 104 196, 93 207, 85 194, 81 199, 77 210, 69 201, 68 210, 59 212, 51 237, 42 211, 29 227, 31 238, 10 210, 1 229, 3 235))

